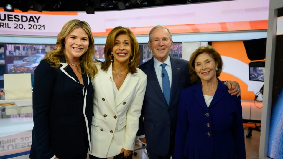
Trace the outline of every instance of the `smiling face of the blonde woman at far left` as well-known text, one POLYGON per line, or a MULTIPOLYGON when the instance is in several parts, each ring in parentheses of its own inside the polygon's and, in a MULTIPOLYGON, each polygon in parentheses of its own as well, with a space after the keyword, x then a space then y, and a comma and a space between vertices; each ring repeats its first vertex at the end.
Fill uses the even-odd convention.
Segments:
POLYGON ((79 59, 88 49, 88 34, 82 28, 76 28, 65 38, 65 52, 69 60, 79 59))

